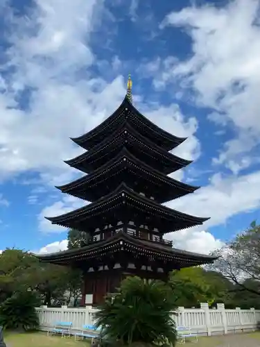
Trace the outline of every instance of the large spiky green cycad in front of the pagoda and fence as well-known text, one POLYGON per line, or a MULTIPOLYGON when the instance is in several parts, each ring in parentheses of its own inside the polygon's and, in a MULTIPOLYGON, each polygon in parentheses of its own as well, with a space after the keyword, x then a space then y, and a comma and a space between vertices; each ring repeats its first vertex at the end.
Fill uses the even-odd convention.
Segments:
POLYGON ((171 288, 159 280, 129 277, 96 313, 105 339, 122 344, 175 345, 175 309, 171 288))

